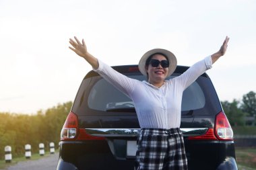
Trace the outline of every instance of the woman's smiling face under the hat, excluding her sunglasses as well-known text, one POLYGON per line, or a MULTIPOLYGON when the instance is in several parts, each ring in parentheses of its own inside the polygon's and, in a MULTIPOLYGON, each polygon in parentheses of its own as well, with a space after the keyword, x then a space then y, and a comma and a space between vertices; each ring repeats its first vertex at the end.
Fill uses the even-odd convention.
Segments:
MULTIPOLYGON (((162 54, 154 54, 152 59, 159 61, 167 60, 162 54)), ((161 87, 164 83, 164 79, 166 79, 168 75, 168 67, 163 68, 161 65, 158 65, 158 67, 152 67, 150 64, 146 66, 146 71, 148 73, 148 82, 156 87, 161 87)))

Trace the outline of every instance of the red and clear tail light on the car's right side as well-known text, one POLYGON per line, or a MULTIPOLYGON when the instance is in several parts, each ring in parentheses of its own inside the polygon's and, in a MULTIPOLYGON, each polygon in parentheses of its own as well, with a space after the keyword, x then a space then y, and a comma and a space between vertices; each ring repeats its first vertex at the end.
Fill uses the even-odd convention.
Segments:
POLYGON ((201 136, 189 136, 189 140, 233 140, 233 130, 224 112, 216 116, 215 128, 209 128, 201 136))

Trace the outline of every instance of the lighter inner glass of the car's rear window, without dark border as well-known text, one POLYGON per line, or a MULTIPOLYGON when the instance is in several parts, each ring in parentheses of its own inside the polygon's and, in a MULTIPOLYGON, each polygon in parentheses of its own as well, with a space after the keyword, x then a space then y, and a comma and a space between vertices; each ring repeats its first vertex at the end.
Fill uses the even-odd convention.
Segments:
MULTIPOLYGON (((143 81, 143 75, 129 76, 143 81)), ((170 77, 169 79, 172 79, 170 77)), ((194 82, 183 92, 182 111, 197 110, 205 105, 205 96, 201 87, 194 82)), ((133 108, 133 101, 104 79, 98 80, 90 90, 88 107, 92 110, 108 111, 115 108, 133 108)))

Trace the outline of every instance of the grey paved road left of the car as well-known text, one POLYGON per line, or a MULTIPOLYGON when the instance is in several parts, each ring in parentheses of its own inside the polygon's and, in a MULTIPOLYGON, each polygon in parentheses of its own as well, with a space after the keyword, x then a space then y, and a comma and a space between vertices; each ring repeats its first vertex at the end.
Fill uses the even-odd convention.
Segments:
POLYGON ((16 165, 10 166, 7 170, 56 170, 59 153, 46 155, 42 159, 22 161, 16 165))

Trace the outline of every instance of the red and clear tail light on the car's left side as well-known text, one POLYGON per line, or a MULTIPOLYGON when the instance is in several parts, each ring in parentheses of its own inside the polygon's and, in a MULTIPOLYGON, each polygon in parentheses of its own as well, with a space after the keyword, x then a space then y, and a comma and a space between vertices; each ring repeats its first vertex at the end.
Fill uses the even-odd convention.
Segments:
POLYGON ((78 128, 76 114, 70 112, 61 130, 61 140, 104 140, 104 137, 86 134, 86 129, 78 128))

